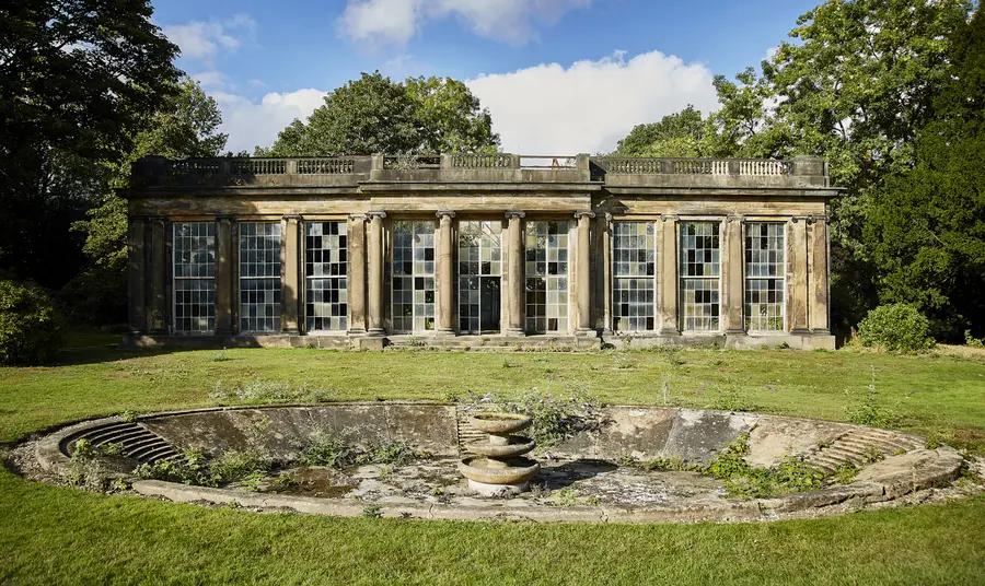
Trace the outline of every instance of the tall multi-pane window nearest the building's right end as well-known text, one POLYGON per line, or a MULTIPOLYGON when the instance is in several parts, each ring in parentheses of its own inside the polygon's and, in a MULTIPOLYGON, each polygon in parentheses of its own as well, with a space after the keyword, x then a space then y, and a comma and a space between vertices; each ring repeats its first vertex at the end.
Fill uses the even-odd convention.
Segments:
POLYGON ((786 225, 745 224, 745 329, 784 331, 786 225))

